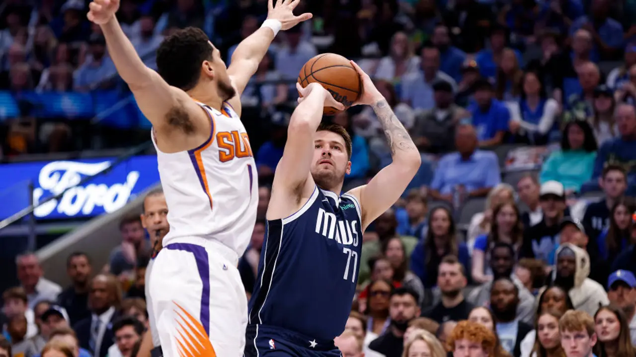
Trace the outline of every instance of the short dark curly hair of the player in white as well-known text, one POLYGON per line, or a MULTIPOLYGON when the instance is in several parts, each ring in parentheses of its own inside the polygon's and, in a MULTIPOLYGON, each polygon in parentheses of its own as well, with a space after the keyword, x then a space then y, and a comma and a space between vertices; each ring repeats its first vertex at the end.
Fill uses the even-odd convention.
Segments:
POLYGON ((212 60, 212 46, 203 30, 186 27, 166 37, 156 52, 157 71, 170 86, 184 91, 194 88, 201 63, 212 60))

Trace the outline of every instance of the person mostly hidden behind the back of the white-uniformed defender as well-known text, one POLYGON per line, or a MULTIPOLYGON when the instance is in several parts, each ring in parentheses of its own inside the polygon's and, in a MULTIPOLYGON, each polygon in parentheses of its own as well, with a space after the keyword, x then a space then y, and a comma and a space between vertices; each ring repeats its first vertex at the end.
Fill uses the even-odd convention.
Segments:
POLYGON ((139 348, 137 357, 161 357, 161 341, 156 328, 155 315, 153 314, 152 297, 150 295, 150 274, 155 264, 155 257, 163 247, 163 237, 170 229, 167 220, 168 204, 165 201, 163 189, 153 189, 146 194, 141 213, 141 223, 148 231, 150 243, 153 246, 153 255, 146 267, 146 306, 148 306, 149 328, 144 333, 144 337, 139 348))

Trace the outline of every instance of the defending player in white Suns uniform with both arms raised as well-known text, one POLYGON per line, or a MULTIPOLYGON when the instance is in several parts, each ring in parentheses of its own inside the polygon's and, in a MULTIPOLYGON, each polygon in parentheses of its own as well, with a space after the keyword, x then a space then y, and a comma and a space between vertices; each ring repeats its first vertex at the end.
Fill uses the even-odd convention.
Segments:
POLYGON ((300 0, 268 1, 268 19, 226 68, 200 29, 167 37, 146 67, 115 17, 119 0, 93 0, 108 53, 153 125, 170 231, 150 276, 163 354, 242 356, 247 302, 237 262, 256 220, 256 166, 240 95, 279 30, 308 20, 300 0))

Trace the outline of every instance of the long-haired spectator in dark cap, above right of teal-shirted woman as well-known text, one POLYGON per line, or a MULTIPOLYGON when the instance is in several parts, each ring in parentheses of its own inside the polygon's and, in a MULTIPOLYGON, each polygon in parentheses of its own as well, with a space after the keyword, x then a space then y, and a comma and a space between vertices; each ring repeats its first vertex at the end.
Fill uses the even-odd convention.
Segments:
POLYGON ((591 125, 594 130, 594 137, 598 140, 598 145, 616 138, 618 135, 618 125, 614 121, 614 109, 616 101, 614 92, 604 84, 594 90, 594 115, 591 118, 591 125))

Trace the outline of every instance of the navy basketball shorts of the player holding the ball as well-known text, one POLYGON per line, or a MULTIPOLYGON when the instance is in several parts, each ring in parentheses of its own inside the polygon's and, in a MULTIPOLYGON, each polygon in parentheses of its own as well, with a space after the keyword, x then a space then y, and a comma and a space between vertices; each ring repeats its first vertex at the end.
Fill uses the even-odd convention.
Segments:
POLYGON ((245 357, 342 357, 333 340, 317 340, 284 328, 247 325, 245 357))

